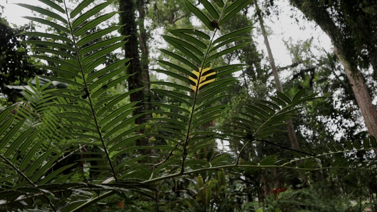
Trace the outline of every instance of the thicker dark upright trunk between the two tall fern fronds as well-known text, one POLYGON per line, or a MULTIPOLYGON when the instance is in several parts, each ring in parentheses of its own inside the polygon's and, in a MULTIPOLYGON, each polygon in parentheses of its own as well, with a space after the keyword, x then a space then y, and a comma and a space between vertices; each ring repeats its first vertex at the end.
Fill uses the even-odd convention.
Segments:
MULTIPOLYGON (((120 14, 120 24, 125 25, 121 28, 122 35, 130 35, 128 37, 127 43, 124 45, 124 56, 126 58, 132 58, 130 60, 130 65, 127 69, 127 74, 133 74, 131 77, 127 78, 128 89, 133 90, 136 88, 142 88, 143 85, 143 69, 140 63, 140 55, 139 55, 139 44, 138 44, 138 31, 136 28, 135 22, 135 12, 136 12, 136 5, 133 0, 120 0, 119 2, 119 11, 122 13, 120 14)), ((130 101, 140 101, 136 106, 137 108, 133 111, 132 115, 142 114, 144 109, 144 99, 145 94, 143 90, 138 92, 134 92, 130 95, 130 101)), ((140 117, 136 118, 135 124, 143 124, 145 123, 146 115, 141 115, 140 117)), ((144 133, 144 129, 141 129, 139 133, 144 133)), ((136 140, 137 146, 147 146, 148 141, 145 138, 136 140)), ((146 154, 147 151, 142 150, 142 154, 146 154)))

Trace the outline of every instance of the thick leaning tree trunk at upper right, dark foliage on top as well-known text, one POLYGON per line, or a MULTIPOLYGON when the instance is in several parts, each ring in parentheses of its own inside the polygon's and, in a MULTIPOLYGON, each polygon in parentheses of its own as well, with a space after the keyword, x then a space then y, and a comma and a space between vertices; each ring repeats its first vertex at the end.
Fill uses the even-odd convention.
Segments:
MULTIPOLYGON (((357 47, 352 36, 343 34, 339 26, 334 23, 333 17, 328 13, 328 8, 319 5, 313 0, 290 0, 291 4, 302 11, 308 18, 316 22, 330 37, 334 45, 334 52, 340 59, 344 71, 352 86, 357 104, 363 114, 366 128, 370 135, 377 137, 377 111, 372 104, 360 70, 357 68, 357 47)), ((373 65, 374 63, 372 63, 373 65)))

